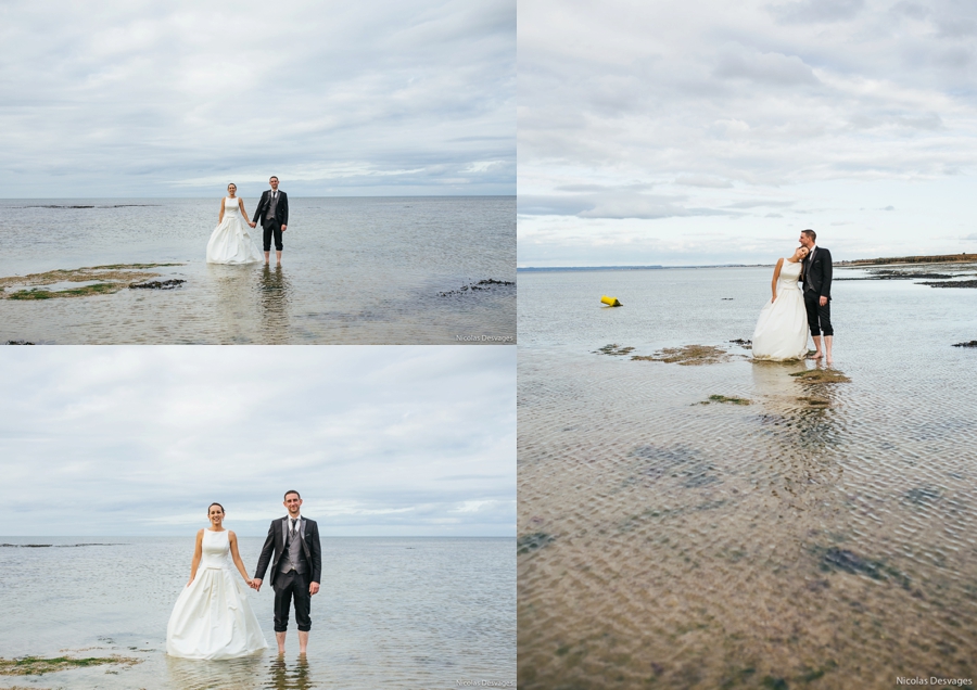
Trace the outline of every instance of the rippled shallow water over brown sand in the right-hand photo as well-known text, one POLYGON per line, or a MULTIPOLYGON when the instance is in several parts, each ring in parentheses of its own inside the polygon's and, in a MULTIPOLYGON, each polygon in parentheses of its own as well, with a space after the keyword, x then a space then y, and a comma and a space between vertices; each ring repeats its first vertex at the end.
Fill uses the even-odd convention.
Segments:
POLYGON ((977 290, 836 282, 804 384, 728 342, 771 270, 520 274, 521 688, 977 682, 977 290))

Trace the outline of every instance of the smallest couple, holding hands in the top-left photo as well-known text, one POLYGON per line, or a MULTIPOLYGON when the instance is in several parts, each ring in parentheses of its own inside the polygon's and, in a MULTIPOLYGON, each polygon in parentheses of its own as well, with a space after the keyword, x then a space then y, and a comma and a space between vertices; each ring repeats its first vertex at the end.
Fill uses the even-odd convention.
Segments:
POLYGON ((244 201, 238 197, 238 187, 227 186, 227 196, 220 200, 217 227, 207 242, 207 264, 257 264, 261 254, 251 241, 248 228, 262 223, 265 265, 271 259, 271 239, 275 239, 275 256, 281 265, 281 234, 289 226, 289 195, 278 189, 278 177, 268 180, 271 189, 262 194, 254 218, 248 220, 244 201))

